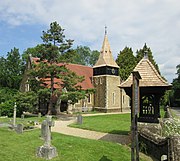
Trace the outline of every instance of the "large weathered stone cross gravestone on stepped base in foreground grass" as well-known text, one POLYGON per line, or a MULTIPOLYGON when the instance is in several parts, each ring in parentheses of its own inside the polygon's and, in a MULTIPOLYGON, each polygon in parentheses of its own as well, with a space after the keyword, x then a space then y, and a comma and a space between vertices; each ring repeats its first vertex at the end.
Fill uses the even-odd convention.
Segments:
POLYGON ((38 147, 36 153, 36 156, 45 159, 52 159, 58 155, 56 148, 51 145, 51 127, 54 126, 54 122, 51 119, 52 116, 47 116, 42 123, 41 136, 44 138, 44 145, 38 147))

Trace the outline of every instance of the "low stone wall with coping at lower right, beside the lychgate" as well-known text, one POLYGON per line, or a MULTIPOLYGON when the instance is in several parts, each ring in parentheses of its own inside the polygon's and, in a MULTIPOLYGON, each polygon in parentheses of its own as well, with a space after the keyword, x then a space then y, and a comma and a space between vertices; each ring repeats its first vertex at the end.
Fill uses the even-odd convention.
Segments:
POLYGON ((139 128, 140 149, 157 160, 166 155, 168 161, 180 161, 180 135, 162 137, 158 125, 146 125, 139 128))

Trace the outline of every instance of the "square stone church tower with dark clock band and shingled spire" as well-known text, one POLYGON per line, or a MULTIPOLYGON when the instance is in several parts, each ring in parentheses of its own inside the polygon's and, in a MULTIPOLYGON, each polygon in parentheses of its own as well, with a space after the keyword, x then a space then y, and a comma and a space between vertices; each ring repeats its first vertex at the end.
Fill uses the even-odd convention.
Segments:
POLYGON ((113 59, 105 30, 100 56, 93 66, 93 83, 96 89, 94 108, 102 112, 121 111, 119 66, 113 59))

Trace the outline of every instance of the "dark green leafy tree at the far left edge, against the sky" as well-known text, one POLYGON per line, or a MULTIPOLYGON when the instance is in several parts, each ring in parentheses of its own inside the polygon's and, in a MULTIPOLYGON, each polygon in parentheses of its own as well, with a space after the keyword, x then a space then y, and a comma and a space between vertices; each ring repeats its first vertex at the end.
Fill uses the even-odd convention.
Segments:
POLYGON ((11 49, 7 58, 0 58, 0 64, 0 86, 19 89, 25 67, 19 50, 17 48, 11 49))

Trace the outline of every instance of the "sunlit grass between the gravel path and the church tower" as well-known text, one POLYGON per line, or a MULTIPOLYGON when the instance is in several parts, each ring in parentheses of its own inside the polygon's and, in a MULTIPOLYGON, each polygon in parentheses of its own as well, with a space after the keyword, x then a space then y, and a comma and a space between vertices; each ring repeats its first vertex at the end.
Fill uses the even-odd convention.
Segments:
POLYGON ((71 124, 71 127, 100 131, 111 134, 127 135, 130 131, 131 114, 112 114, 83 117, 83 124, 71 124))

